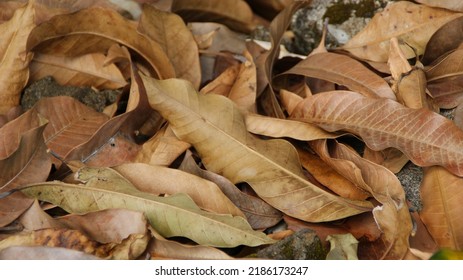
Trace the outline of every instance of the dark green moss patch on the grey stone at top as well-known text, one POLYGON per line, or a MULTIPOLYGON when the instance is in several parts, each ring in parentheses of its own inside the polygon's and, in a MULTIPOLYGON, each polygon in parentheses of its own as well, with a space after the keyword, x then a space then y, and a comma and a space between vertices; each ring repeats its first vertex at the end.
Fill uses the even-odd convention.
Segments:
POLYGON ((374 0, 363 0, 358 4, 339 2, 328 7, 323 18, 329 18, 331 24, 341 24, 348 20, 352 14, 355 14, 356 17, 371 18, 375 10, 374 0))

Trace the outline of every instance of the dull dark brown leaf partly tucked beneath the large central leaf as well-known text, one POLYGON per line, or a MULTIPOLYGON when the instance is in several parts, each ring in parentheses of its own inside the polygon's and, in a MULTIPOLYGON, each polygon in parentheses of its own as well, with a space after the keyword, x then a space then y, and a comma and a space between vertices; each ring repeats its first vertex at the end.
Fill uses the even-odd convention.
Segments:
POLYGON ((269 228, 281 220, 280 211, 268 205, 262 199, 240 191, 223 176, 201 169, 193 159, 191 152, 187 152, 179 169, 216 183, 222 192, 243 211, 252 228, 269 228))

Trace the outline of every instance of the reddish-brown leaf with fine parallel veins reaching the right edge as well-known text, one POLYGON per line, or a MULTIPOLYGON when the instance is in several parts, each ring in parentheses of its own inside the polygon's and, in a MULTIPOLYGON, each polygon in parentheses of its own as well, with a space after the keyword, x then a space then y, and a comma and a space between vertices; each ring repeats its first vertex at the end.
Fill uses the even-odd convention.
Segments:
POLYGON ((427 109, 333 91, 306 98, 291 115, 328 131, 357 134, 373 150, 394 147, 420 166, 442 165, 463 176, 463 131, 427 109))

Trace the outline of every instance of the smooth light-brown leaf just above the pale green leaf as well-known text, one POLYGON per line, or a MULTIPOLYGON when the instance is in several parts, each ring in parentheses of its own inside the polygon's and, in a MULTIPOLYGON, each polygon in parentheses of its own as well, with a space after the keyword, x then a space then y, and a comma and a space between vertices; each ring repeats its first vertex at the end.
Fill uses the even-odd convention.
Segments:
POLYGON ((204 210, 245 217, 216 184, 181 170, 143 163, 123 164, 113 169, 140 191, 155 195, 185 193, 204 210))

